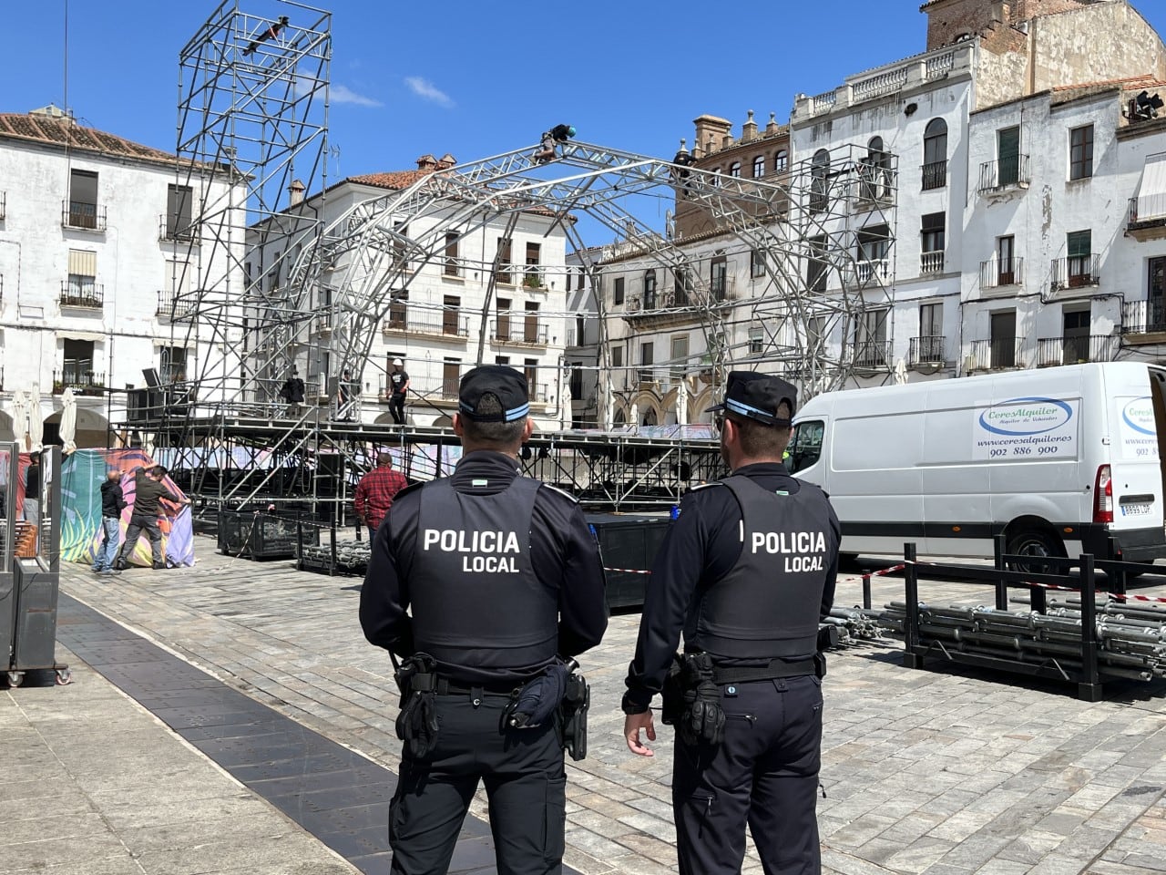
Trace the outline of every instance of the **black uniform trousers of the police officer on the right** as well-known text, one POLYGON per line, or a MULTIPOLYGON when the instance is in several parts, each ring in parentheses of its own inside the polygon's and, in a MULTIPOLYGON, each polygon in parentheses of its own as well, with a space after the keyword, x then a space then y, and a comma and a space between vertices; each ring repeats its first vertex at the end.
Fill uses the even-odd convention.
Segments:
POLYGON ((718 747, 676 740, 672 792, 681 875, 739 873, 746 822, 766 875, 819 875, 822 681, 806 676, 722 685, 721 707, 718 747))

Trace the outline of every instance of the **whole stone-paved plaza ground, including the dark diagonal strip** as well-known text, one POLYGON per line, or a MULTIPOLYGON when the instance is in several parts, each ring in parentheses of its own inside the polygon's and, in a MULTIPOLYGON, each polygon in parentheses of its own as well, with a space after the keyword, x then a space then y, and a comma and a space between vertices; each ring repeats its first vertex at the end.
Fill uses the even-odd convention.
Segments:
MULTIPOLYGON (((357 623, 360 580, 231 559, 205 537, 196 552, 194 568, 63 569, 57 652, 73 682, 0 688, 0 873, 388 870, 396 693, 357 623)), ((951 583, 920 597, 991 601, 951 583)), ((837 603, 859 598, 844 575, 837 603)), ((876 606, 892 598, 902 581, 876 579, 876 606)), ((568 765, 566 862, 584 875, 676 868, 670 729, 653 758, 620 737, 638 623, 612 617, 583 659, 590 754, 568 765)), ((1090 704, 1052 682, 908 670, 900 651, 830 658, 826 872, 1166 873, 1166 685, 1107 684, 1090 704)), ((484 875, 489 860, 469 822, 454 868, 484 875)), ((743 870, 760 873, 752 852, 743 870)))

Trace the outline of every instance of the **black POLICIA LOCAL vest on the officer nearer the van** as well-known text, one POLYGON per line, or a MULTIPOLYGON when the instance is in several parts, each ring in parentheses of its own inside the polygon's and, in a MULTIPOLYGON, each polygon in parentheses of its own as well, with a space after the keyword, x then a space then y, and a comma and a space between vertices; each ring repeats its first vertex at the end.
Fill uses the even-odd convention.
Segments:
POLYGON ((838 548, 826 495, 807 484, 775 495, 749 477, 721 484, 740 504, 740 558, 698 594, 684 640, 722 657, 813 656, 826 572, 838 548))

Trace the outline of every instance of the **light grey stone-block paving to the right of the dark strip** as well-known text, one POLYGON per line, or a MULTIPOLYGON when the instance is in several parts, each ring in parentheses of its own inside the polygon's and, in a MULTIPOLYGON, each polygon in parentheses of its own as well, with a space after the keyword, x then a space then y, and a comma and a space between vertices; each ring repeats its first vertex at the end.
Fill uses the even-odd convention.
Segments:
MULTIPOLYGON (((389 768, 395 688, 387 656, 357 622, 359 579, 213 553, 198 565, 63 588, 229 685, 389 768)), ((1145 590, 1166 594, 1166 588, 1145 590)), ((874 603, 902 597, 878 578, 874 603)), ((861 598, 840 581, 840 604, 861 598)), ((925 583, 932 602, 988 592, 925 583)), ((566 862, 584 875, 675 870, 670 729, 653 758, 620 737, 619 696, 639 615, 614 616, 583 659, 592 685, 588 758, 569 764, 566 862)), ((1146 875, 1166 873, 1166 685, 1107 685, 1082 702, 1055 684, 983 671, 901 667, 897 642, 831 656, 820 800, 834 875, 1146 875)), ((485 816, 479 798, 475 812, 485 816)), ((744 873, 760 873, 750 848, 744 873)))

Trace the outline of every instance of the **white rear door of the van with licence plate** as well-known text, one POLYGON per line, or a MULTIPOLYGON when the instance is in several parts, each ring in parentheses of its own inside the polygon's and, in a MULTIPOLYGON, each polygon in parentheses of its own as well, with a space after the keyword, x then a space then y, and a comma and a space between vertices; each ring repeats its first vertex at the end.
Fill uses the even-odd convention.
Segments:
MULTIPOLYGON (((1112 496, 1108 505, 1114 519, 1109 530, 1128 559, 1149 560, 1164 554, 1166 541, 1166 452, 1161 446, 1166 436, 1166 370, 1110 369, 1105 392, 1112 427, 1112 496)), ((1105 503, 1104 495, 1094 496, 1095 509, 1105 503)))

